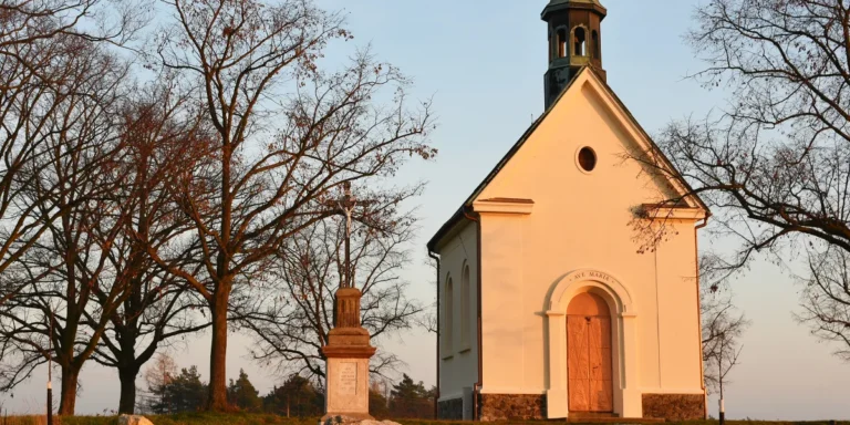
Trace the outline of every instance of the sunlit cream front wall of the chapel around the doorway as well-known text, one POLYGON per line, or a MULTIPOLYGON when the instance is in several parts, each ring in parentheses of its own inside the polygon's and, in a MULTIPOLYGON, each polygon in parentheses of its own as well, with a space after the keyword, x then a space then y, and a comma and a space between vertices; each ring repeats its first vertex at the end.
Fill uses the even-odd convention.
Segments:
POLYGON ((633 208, 663 194, 623 159, 632 137, 599 94, 571 90, 478 196, 535 203, 529 216, 481 215, 483 393, 546 392, 545 300, 559 278, 588 268, 615 277, 633 298, 635 386, 702 391, 696 284, 683 280, 694 274, 695 224, 682 224, 681 236, 659 251, 641 249, 633 208), (582 146, 599 158, 590 174, 574 162, 582 146))

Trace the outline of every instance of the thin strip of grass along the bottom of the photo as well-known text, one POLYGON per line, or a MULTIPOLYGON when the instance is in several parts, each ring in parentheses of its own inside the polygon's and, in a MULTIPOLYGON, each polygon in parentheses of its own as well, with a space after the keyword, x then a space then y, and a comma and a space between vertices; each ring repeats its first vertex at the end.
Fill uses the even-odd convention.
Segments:
MULTIPOLYGON (((183 413, 177 415, 147 416, 155 425, 315 425, 318 418, 283 417, 267 414, 249 413, 183 413)), ((427 421, 427 419, 394 419, 402 425, 469 425, 460 421, 427 421)), ((54 425, 116 425, 116 416, 69 416, 54 417, 54 425)), ((561 421, 509 421, 496 422, 494 425, 548 425, 561 421)), ((628 421, 623 421, 628 423, 628 421)), ((717 421, 668 422, 670 425, 717 425, 717 421)), ((792 422, 792 421, 726 421, 727 425, 829 425, 828 421, 792 422)), ((837 425, 850 425, 850 422, 837 422, 837 425)), ((44 416, 10 416, 0 418, 0 425, 46 425, 44 416), (4 422, 6 421, 6 422, 4 422)), ((570 424, 572 425, 572 424, 570 424)), ((577 424, 580 425, 580 424, 577 424)))

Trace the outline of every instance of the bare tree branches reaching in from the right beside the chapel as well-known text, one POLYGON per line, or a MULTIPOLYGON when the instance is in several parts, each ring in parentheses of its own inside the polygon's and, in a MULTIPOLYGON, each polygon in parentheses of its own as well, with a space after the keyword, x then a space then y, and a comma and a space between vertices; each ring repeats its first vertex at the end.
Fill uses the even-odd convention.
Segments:
POLYGON ((728 105, 705 120, 672 123, 660 151, 635 158, 678 179, 665 153, 691 185, 687 195, 712 207, 711 231, 739 242, 715 262, 719 271, 745 270, 758 253, 808 257, 802 317, 817 335, 846 343, 847 332, 835 331, 847 297, 832 297, 840 287, 829 280, 841 279, 835 250, 850 251, 850 8, 711 0, 696 19, 687 40, 707 68, 693 76, 728 91, 728 105))

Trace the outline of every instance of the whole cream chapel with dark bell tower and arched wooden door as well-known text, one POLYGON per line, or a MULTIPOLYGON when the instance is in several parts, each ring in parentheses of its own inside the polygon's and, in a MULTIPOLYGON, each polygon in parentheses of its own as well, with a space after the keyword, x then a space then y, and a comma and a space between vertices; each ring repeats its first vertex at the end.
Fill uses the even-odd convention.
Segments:
POLYGON ((607 13, 599 0, 546 6, 546 112, 428 242, 440 418, 705 417, 708 211, 629 159, 656 147, 605 83, 607 13), (641 250, 634 222, 653 216, 673 231, 641 250))

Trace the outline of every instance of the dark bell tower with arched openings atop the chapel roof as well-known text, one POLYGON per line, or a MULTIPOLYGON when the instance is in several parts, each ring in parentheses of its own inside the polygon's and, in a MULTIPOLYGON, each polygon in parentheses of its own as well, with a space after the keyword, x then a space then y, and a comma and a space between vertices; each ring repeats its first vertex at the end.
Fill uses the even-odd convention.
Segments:
POLYGON ((554 102, 582 66, 605 77, 602 69, 602 20, 608 10, 599 0, 550 0, 541 13, 549 27, 549 71, 546 107, 554 102))

